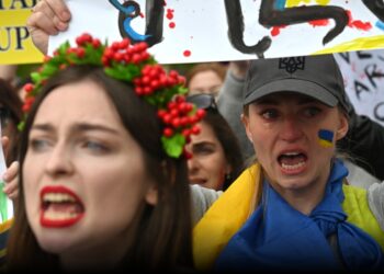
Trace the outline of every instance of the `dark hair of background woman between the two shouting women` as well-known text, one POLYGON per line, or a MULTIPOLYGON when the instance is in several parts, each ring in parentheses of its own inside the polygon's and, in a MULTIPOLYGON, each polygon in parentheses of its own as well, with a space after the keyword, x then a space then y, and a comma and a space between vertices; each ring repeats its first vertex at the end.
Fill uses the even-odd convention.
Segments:
POLYGON ((223 184, 223 191, 225 191, 242 172, 245 168, 244 158, 238 138, 230 128, 228 122, 216 109, 211 107, 205 110, 206 115, 203 122, 212 127, 216 138, 223 147, 225 158, 231 167, 231 172, 226 176, 223 184))

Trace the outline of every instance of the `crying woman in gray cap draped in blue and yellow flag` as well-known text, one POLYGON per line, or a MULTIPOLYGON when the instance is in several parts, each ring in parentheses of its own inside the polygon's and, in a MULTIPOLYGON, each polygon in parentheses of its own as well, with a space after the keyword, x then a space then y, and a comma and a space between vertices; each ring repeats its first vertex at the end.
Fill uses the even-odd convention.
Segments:
POLYGON ((384 269, 384 231, 336 157, 348 103, 332 55, 251 61, 242 122, 257 162, 194 228, 199 270, 384 269))

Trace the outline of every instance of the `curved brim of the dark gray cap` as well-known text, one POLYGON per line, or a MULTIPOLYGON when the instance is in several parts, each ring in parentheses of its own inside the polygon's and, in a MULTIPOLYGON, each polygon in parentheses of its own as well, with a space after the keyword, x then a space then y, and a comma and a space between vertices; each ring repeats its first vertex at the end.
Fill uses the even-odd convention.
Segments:
POLYGON ((317 83, 300 79, 281 79, 269 82, 252 91, 247 98, 245 98, 242 104, 247 105, 262 96, 282 91, 297 92, 316 99, 328 106, 336 106, 338 104, 337 98, 327 89, 317 83))

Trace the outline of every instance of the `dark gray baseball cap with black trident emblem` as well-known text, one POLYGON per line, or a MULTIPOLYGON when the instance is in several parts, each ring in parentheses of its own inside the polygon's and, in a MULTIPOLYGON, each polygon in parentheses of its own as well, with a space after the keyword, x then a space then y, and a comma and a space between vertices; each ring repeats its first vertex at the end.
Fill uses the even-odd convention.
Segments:
POLYGON ((297 92, 348 110, 345 84, 332 55, 256 59, 250 62, 244 105, 275 92, 297 92))

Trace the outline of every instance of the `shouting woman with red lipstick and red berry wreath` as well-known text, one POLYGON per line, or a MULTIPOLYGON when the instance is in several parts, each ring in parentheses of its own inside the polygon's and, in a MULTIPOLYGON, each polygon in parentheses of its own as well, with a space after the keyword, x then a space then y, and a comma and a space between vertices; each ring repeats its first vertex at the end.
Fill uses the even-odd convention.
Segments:
POLYGON ((7 270, 188 271, 192 219, 182 132, 204 111, 185 102, 184 79, 154 64, 146 44, 108 46, 89 34, 76 42, 63 44, 25 85, 7 270), (125 62, 114 50, 140 57, 125 62), (166 82, 144 92, 148 76, 166 82), (166 122, 176 107, 188 125, 166 122))

